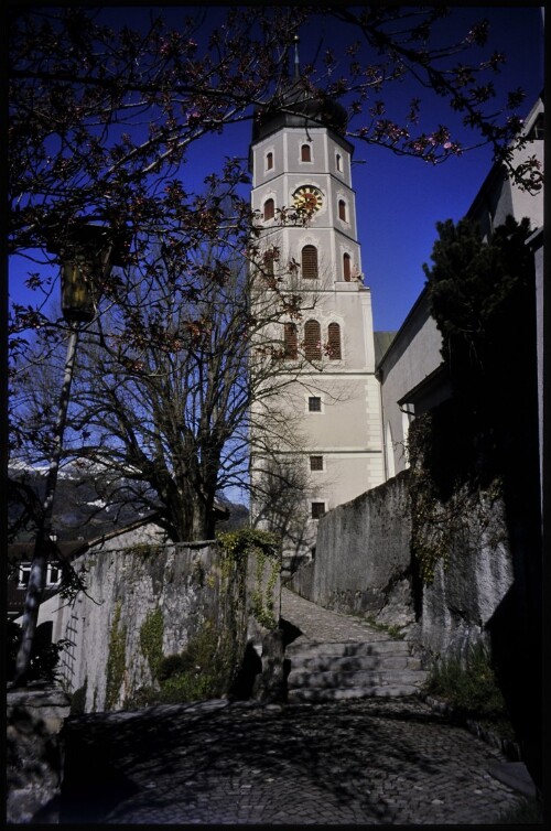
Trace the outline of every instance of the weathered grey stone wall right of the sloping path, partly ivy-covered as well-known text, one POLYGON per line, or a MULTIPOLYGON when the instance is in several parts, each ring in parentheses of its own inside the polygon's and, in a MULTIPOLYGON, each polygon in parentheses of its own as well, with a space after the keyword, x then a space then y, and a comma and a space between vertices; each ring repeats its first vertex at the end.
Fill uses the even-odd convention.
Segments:
POLYGON ((493 498, 462 517, 449 565, 431 584, 415 579, 406 471, 341 505, 318 525, 315 560, 287 583, 325 608, 407 627, 433 655, 463 654, 487 638, 490 620, 514 582, 503 503, 493 498))

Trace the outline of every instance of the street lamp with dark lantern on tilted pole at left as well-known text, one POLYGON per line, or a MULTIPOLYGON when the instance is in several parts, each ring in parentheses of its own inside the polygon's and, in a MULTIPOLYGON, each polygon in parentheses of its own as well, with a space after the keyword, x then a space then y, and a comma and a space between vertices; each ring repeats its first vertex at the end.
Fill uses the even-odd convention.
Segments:
POLYGON ((73 226, 63 245, 55 244, 48 249, 52 253, 58 255, 62 262, 62 311, 69 325, 69 337, 54 429, 54 445, 46 478, 46 492, 39 517, 31 573, 26 587, 22 622, 23 633, 13 678, 13 686, 15 687, 24 687, 28 682, 47 563, 55 550, 55 543, 52 540, 53 505, 80 325, 90 323, 96 314, 94 282, 97 281, 98 277, 106 279, 112 266, 123 265, 123 253, 128 242, 127 235, 118 234, 117 237, 114 237, 108 227, 83 222, 73 226))

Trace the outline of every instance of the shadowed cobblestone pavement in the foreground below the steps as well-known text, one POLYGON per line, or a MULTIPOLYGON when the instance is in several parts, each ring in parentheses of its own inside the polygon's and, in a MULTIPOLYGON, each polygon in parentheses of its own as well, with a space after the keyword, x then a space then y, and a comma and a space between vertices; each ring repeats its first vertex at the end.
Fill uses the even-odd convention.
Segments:
MULTIPOLYGON (((282 616, 301 630, 317 614, 328 624, 312 605, 284 597, 282 616)), ((488 773, 498 751, 418 699, 220 700, 65 730, 62 823, 485 824, 520 798, 488 773)))

